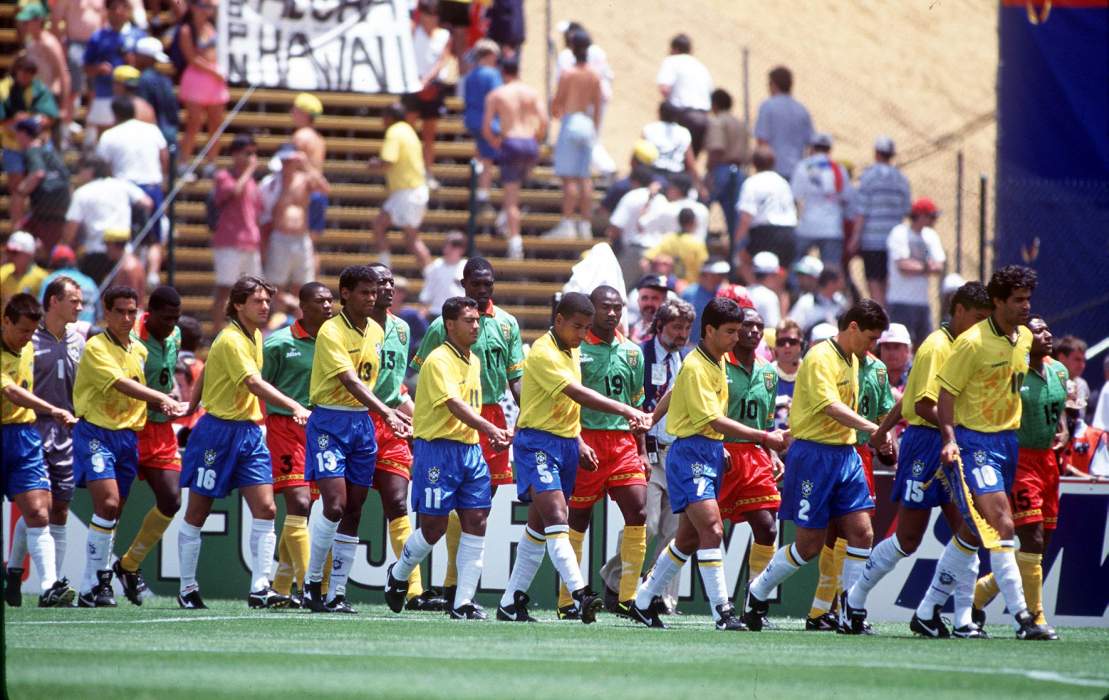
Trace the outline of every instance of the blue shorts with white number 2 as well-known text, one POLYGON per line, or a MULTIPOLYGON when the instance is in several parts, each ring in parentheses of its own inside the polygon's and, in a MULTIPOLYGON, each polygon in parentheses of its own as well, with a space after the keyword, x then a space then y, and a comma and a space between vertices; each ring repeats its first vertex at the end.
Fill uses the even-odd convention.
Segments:
POLYGON ((828 520, 874 507, 854 445, 794 440, 785 453, 780 520, 822 530, 828 520))

